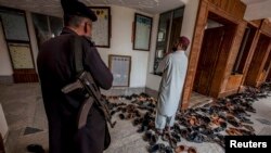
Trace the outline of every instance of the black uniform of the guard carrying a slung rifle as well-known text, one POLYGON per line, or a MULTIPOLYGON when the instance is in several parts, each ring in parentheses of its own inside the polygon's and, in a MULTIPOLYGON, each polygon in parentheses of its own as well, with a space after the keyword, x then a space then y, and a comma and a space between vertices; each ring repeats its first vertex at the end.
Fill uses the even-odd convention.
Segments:
POLYGON ((75 39, 81 42, 83 68, 92 74, 98 87, 109 89, 113 82, 113 75, 93 43, 73 30, 64 28, 61 36, 41 46, 37 64, 49 122, 49 150, 50 153, 101 153, 108 136, 104 115, 94 104, 86 127, 78 130, 76 119, 85 97, 80 92, 61 91, 76 79, 72 47, 75 39))

